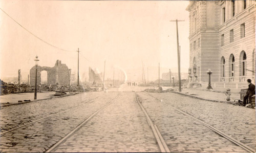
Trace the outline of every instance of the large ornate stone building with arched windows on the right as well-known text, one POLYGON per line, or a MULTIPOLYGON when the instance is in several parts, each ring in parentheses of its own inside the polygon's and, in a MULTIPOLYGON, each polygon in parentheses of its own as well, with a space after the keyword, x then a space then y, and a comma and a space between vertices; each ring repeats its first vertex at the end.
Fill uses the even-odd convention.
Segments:
POLYGON ((191 1, 190 82, 242 88, 255 80, 255 1, 191 1))

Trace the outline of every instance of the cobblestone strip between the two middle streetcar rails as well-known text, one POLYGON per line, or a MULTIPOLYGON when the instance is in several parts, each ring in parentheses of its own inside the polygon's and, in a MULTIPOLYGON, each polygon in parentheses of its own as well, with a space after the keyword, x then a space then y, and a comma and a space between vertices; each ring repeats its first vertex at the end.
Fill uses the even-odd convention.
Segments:
POLYGON ((132 92, 95 116, 56 152, 158 152, 153 132, 132 92))

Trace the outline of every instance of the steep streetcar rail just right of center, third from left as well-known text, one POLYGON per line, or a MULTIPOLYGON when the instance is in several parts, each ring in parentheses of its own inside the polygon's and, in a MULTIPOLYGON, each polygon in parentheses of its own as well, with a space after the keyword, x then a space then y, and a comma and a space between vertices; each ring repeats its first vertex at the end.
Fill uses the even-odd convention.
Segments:
POLYGON ((165 141, 164 141, 164 139, 163 139, 163 137, 162 137, 162 135, 161 135, 161 133, 160 133, 160 131, 159 131, 157 125, 153 123, 152 119, 151 119, 150 116, 147 114, 145 108, 144 108, 143 105, 140 103, 139 98, 138 98, 138 95, 137 95, 136 92, 135 92, 135 95, 136 95, 136 101, 137 101, 137 103, 139 104, 139 106, 140 106, 142 112, 143 112, 143 113, 145 114, 145 116, 146 116, 147 123, 151 126, 151 129, 153 130, 153 134, 154 134, 154 136, 155 136, 155 138, 156 138, 156 140, 157 140, 157 144, 158 144, 158 146, 159 146, 161 152, 170 152, 170 150, 169 150, 167 144, 165 143, 165 141))

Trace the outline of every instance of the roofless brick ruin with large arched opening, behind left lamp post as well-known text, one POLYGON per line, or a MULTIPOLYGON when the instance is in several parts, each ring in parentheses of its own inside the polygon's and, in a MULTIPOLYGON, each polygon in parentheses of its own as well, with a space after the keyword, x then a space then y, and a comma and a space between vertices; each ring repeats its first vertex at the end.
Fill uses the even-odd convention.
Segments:
MULTIPOLYGON (((30 69, 30 84, 35 85, 35 69, 30 69)), ((70 69, 71 70, 71 69, 70 69)), ((61 64, 61 60, 57 60, 54 67, 37 66, 37 85, 41 83, 41 71, 47 71, 47 84, 69 85, 71 71, 66 64, 61 64)))

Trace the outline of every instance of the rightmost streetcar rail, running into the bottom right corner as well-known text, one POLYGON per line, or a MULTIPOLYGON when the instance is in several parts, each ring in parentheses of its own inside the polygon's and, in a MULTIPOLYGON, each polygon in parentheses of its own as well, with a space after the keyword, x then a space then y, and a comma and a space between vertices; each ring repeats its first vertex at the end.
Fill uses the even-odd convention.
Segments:
MULTIPOLYGON (((154 97, 154 96, 151 95, 150 93, 147 93, 147 94, 150 95, 151 97, 153 97, 154 99, 156 99, 157 101, 162 102, 161 100, 159 100, 158 98, 154 97)), ((242 143, 242 142, 240 142, 240 141, 238 141, 238 140, 236 140, 236 139, 234 139, 234 138, 232 138, 232 137, 229 137, 227 134, 221 132, 221 130, 215 128, 214 126, 211 126, 211 125, 205 123, 204 121, 195 118, 194 116, 192 116, 192 115, 190 115, 190 114, 188 114, 188 113, 186 113, 186 112, 180 110, 179 108, 176 108, 175 106, 173 106, 173 105, 171 105, 171 104, 168 104, 168 103, 166 103, 166 102, 163 102, 163 104, 165 104, 165 105, 167 105, 167 106, 173 107, 176 111, 178 111, 179 113, 181 113, 181 114, 183 114, 183 115, 185 115, 185 116, 187 116, 187 117, 193 118, 194 120, 196 120, 197 122, 203 124, 203 125, 206 126, 207 128, 211 129, 213 132, 217 133, 217 134, 220 135, 221 137, 223 137, 223 138, 225 138, 225 139, 231 141, 232 143, 234 143, 234 144, 236 144, 236 145, 242 147, 242 148, 245 149, 246 151, 249 151, 249 152, 256 152, 255 149, 251 148, 250 146, 248 146, 248 145, 246 145, 246 144, 244 144, 244 143, 242 143)))

